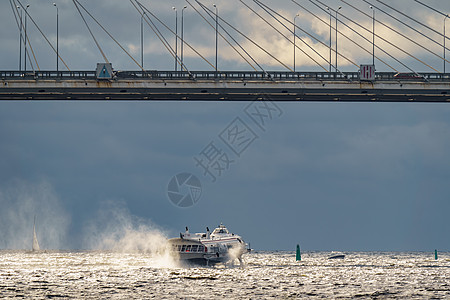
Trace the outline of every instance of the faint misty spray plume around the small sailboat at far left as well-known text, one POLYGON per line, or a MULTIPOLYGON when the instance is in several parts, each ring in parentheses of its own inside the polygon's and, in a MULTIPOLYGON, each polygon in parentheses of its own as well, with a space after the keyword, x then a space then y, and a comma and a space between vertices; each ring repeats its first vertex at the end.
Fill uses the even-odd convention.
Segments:
POLYGON ((0 186, 0 248, 30 250, 35 216, 41 249, 65 248, 70 218, 48 181, 0 186))

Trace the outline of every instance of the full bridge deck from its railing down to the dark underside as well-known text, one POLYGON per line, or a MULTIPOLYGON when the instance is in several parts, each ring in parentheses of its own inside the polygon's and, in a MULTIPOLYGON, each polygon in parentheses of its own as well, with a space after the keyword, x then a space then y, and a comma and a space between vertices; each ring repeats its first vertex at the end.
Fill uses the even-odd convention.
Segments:
POLYGON ((450 102, 450 74, 317 72, 0 71, 0 100, 450 102))

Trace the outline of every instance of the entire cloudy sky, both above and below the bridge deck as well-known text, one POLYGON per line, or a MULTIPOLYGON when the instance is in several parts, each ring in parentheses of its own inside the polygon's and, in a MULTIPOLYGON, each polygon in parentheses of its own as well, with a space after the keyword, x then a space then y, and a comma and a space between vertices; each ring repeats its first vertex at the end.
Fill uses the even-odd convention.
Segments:
MULTIPOLYGON (((73 69, 93 69, 102 57, 71 1, 29 0, 31 16, 54 42, 53 2, 60 9, 61 56, 73 69)), ((142 2, 155 7, 167 23, 174 23, 172 6, 180 11, 186 5, 183 1, 142 2)), ((354 2, 368 10, 364 2, 354 2)), ((450 8, 443 1, 424 2, 441 11, 450 8)), ((139 60, 140 16, 128 1, 81 3, 139 60)), ((212 2, 204 3, 212 7, 212 2)), ((290 1, 265 3, 291 18, 297 11, 290 1)), ((342 5, 343 13, 371 25, 370 19, 358 16, 342 2, 327 3, 330 7, 342 5)), ((443 18, 435 12, 412 0, 396 1, 395 5, 441 30, 443 18)), ((227 20, 280 60, 291 63, 289 42, 263 27, 254 15, 250 17, 238 1, 218 2, 217 6, 227 20)), ((305 6, 320 13, 311 4, 305 6)), ((299 14, 297 22, 304 24, 302 28, 328 42, 328 27, 305 11, 299 14)), ((378 14, 380 20, 402 28, 378 14)), ((17 70, 18 29, 8 1, 0 4, 0 16, 0 69, 17 70)), ((186 39, 213 61, 214 32, 191 8, 185 10, 185 22, 186 39)), ((423 37, 402 30, 436 53, 442 51, 423 37)), ((50 48, 34 28, 29 34, 41 69, 55 69, 56 57, 50 48)), ((116 69, 138 69, 111 40, 99 31, 96 35, 116 69)), ((389 35, 393 34, 384 33, 389 35)), ((393 39, 442 69, 442 60, 434 54, 393 39)), ((340 44, 358 64, 371 62, 370 54, 355 50, 349 42, 340 44)), ((370 48, 370 44, 366 46, 370 48)), ((173 69, 173 58, 150 31, 145 49, 146 68, 173 69)), ((327 55, 328 50, 322 50, 327 55)), ((219 53, 222 69, 251 70, 229 48, 224 46, 219 53)), ((254 53, 264 68, 283 70, 263 53, 254 53)), ((405 54, 396 57, 415 70, 430 71, 405 54)), ((192 70, 211 70, 188 50, 185 62, 192 70)), ((297 63, 298 70, 321 70, 300 52, 297 63)), ((355 66, 343 59, 339 63, 344 71, 355 71, 355 66)), ((378 60, 376 64, 379 71, 392 71, 378 60)), ((171 237, 185 226, 202 232, 206 226, 213 228, 223 222, 258 250, 294 250, 300 244, 306 251, 449 251, 448 105, 311 102, 274 106, 268 102, 276 113, 263 128, 246 114, 252 105, 1 102, 0 248, 29 247, 36 216, 40 244, 47 249, 95 249, 101 247, 98 241, 105 236, 116 237, 127 230, 171 237), (254 134, 239 155, 221 139, 236 120, 254 134), (195 161, 211 143, 233 161, 215 182, 195 161), (184 172, 195 175, 202 185, 200 199, 188 208, 174 205, 167 193, 173 176, 184 172)))

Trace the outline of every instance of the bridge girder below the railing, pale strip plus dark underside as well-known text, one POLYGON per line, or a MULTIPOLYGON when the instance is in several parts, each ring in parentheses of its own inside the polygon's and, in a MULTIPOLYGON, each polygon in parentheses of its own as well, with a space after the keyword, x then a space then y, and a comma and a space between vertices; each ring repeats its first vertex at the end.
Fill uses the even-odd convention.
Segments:
POLYGON ((16 79, 0 100, 449 102, 450 82, 337 80, 16 79))

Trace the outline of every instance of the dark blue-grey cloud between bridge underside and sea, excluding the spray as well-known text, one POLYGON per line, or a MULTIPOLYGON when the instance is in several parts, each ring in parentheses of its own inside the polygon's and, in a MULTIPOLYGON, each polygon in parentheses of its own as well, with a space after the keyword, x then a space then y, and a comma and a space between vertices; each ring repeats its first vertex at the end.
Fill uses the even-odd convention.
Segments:
POLYGON ((260 249, 448 248, 445 105, 284 104, 284 115, 212 183, 193 157, 243 108, 2 103, 2 180, 48 178, 74 234, 103 201, 117 200, 175 235, 223 221, 260 249), (191 209, 165 194, 184 171, 204 185, 191 209))

